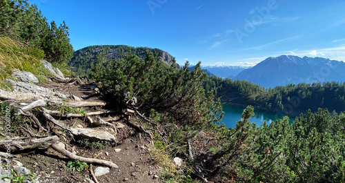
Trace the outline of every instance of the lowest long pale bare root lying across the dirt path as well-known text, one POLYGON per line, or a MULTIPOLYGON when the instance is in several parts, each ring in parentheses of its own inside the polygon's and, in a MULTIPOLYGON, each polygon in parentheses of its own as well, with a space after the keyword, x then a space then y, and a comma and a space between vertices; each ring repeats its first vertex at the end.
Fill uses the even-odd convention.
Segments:
POLYGON ((92 163, 92 164, 101 164, 104 166, 109 166, 111 168, 119 168, 119 166, 117 166, 117 164, 112 163, 112 162, 108 162, 105 160, 97 160, 97 159, 93 159, 93 158, 88 158, 88 157, 81 157, 79 155, 75 155, 73 153, 71 153, 70 151, 67 151, 64 147, 64 144, 62 142, 55 142, 55 144, 52 144, 52 148, 55 149, 55 151, 61 153, 62 155, 70 158, 71 160, 79 160, 81 162, 86 162, 86 163, 92 163), (63 148, 62 148, 63 147, 63 148))

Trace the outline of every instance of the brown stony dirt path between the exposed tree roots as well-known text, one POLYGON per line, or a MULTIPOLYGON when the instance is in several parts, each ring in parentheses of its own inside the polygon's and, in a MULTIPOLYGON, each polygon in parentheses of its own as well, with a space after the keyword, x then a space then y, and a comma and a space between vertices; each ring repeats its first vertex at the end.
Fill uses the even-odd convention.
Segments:
MULTIPOLYGON (((50 83, 45 85, 47 88, 54 88, 65 93, 71 93, 77 97, 90 95, 92 90, 91 81, 86 84, 60 84, 50 83)), ((88 102, 99 102, 97 97, 86 99, 88 102)), ((99 109, 99 107, 97 107, 99 109)), ((93 108, 85 108, 85 110, 95 110, 93 108)), ((68 144, 70 151, 77 153, 83 157, 95 157, 97 159, 108 160, 114 162, 119 168, 110 168, 110 173, 97 177, 99 182, 161 182, 161 168, 155 166, 155 160, 150 157, 150 141, 147 135, 137 132, 134 128, 126 125, 125 119, 117 115, 106 115, 104 118, 117 119, 119 124, 123 124, 122 128, 117 131, 117 142, 112 144, 103 144, 97 142, 82 142, 83 139, 73 139, 68 133, 61 132, 61 138, 68 144)), ((72 126, 86 127, 86 117, 75 119, 58 119, 72 126)), ((84 171, 70 171, 66 164, 70 161, 52 148, 42 151, 28 151, 18 154, 18 160, 32 173, 38 175, 37 182, 90 182, 92 176, 89 168, 84 171), (88 180, 89 179, 89 180, 88 180)), ((95 171, 97 165, 93 165, 95 171)))

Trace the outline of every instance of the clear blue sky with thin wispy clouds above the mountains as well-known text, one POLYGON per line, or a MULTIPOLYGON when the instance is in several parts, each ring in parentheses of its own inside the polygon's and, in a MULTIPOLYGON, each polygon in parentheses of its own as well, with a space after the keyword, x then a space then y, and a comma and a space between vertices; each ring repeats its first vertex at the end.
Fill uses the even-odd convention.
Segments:
POLYGON ((248 65, 279 55, 345 61, 345 1, 30 0, 66 21, 78 50, 148 46, 202 65, 248 65))

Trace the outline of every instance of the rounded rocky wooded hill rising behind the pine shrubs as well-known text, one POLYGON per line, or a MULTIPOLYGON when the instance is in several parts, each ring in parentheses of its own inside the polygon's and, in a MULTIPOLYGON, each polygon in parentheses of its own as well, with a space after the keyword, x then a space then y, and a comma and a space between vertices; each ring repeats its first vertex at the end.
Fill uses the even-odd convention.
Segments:
MULTIPOLYGON (((75 73, 83 77, 88 73, 88 70, 90 70, 92 61, 97 60, 97 54, 106 52, 106 57, 108 57, 108 59, 124 59, 126 58, 128 50, 131 50, 132 54, 137 55, 141 59, 145 59, 146 50, 157 52, 158 56, 161 57, 161 61, 168 65, 172 64, 172 60, 174 59, 174 57, 172 57, 168 52, 164 52, 158 48, 135 48, 126 45, 88 46, 75 51, 72 59, 68 62, 68 65, 72 67, 75 73)), ((177 68, 181 68, 181 66, 177 64, 177 68)))

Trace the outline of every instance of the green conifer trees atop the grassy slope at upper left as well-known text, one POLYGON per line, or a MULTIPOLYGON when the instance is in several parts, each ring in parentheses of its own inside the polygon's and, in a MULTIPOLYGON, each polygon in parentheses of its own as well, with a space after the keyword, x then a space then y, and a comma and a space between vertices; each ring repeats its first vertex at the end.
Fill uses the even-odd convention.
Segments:
POLYGON ((73 48, 65 21, 48 23, 28 0, 0 0, 0 35, 20 41, 26 52, 53 62, 66 62, 73 48))

